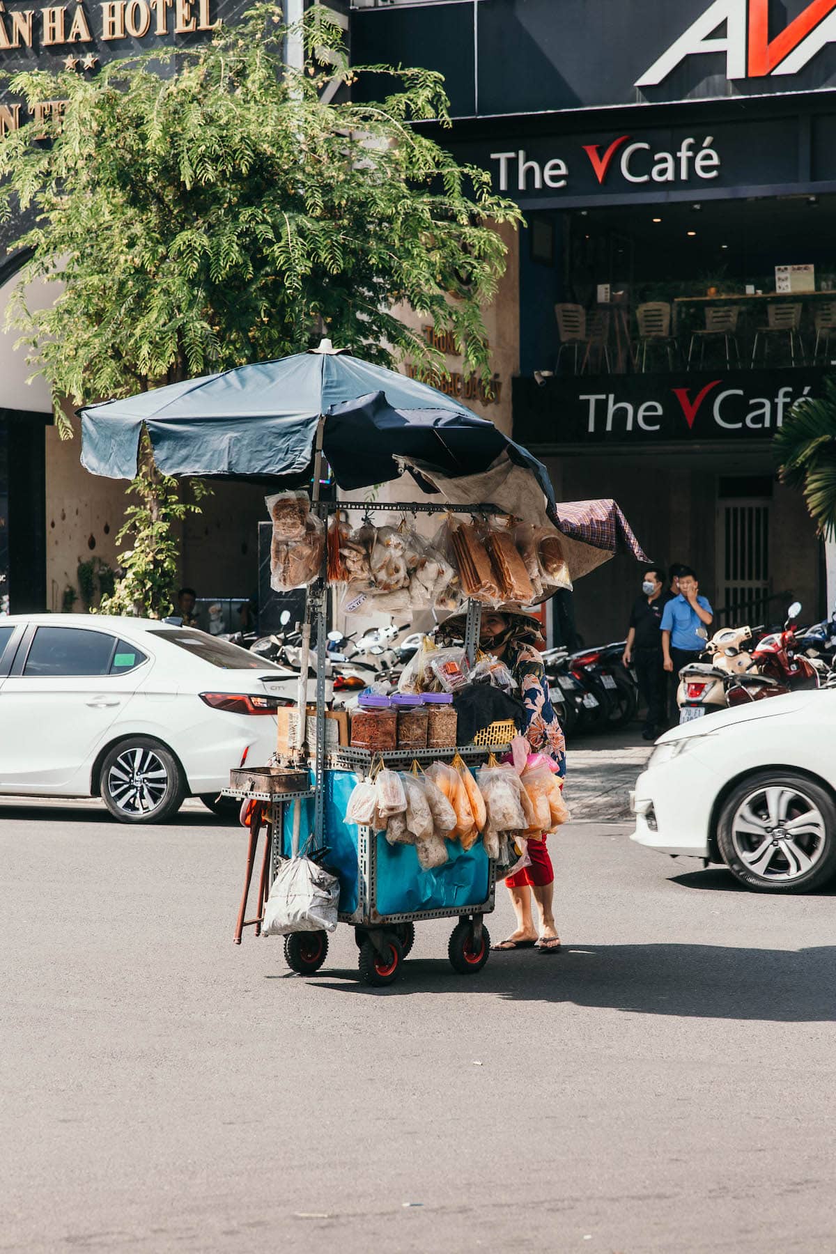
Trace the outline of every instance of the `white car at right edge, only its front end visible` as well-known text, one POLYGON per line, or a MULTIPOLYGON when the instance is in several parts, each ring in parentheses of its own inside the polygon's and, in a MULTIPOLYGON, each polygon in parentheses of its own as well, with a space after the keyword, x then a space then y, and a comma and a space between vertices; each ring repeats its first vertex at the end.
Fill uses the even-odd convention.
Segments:
POLYGON ((726 863, 761 892, 818 888, 836 874, 836 691, 672 729, 637 780, 633 810, 640 845, 726 863))

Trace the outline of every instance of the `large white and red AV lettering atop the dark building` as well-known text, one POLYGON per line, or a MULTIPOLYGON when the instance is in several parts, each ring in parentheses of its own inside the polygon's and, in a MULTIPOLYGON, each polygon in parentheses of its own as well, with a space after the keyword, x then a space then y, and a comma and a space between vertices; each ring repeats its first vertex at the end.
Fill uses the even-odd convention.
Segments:
POLYGON ((713 0, 701 18, 637 79, 658 87, 688 56, 722 53, 727 79, 798 74, 827 44, 836 43, 836 0, 812 0, 770 39, 770 0, 713 0), (718 29, 724 26, 724 34, 718 29))

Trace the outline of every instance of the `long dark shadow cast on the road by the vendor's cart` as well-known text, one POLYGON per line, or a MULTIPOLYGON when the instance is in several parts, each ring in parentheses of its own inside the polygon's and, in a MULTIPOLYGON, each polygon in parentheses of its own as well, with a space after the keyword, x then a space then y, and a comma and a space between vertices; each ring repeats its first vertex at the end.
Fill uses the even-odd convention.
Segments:
POLYGON ((548 958, 531 951, 494 953, 478 976, 456 976, 445 966, 441 959, 407 961, 397 983, 382 989, 357 983, 356 969, 323 969, 312 983, 374 997, 475 993, 637 1014, 775 1023, 836 1021, 833 946, 798 951, 711 944, 589 946, 548 958))

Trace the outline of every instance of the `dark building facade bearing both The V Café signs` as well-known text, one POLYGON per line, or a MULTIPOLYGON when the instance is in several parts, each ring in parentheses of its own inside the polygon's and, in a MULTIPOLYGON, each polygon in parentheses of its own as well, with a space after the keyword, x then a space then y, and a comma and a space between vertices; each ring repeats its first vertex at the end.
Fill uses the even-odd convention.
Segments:
MULTIPOLYGON (((525 213, 493 317, 559 497, 614 497, 721 621, 823 612, 771 438, 836 362, 836 0, 355 0, 351 39, 444 73, 437 138, 525 213)), ((637 582, 579 584, 588 642, 637 582)))

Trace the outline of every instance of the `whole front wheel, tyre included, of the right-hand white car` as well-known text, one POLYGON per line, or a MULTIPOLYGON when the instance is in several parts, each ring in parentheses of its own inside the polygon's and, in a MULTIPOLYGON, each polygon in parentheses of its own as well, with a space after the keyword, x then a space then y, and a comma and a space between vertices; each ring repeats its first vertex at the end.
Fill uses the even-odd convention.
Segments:
POLYGON ((803 775, 762 771, 726 799, 717 844, 747 888, 810 893, 836 874, 836 806, 803 775))

